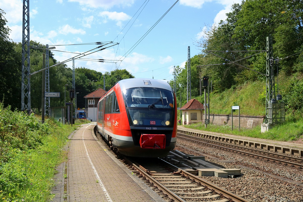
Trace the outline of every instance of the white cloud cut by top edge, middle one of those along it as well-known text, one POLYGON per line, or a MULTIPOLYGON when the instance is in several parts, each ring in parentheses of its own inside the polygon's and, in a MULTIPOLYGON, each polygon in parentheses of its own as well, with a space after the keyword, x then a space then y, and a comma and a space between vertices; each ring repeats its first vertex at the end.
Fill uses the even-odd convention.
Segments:
POLYGON ((113 6, 131 6, 134 4, 134 0, 68 0, 69 2, 78 2, 80 5, 84 5, 92 8, 112 8, 113 6))

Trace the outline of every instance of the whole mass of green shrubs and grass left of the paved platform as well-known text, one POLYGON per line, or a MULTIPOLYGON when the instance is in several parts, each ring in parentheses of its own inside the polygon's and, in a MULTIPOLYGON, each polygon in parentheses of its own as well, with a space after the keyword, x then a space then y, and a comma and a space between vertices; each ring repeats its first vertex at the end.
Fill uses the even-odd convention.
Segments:
POLYGON ((47 201, 52 197, 62 148, 75 130, 51 119, 3 108, 0 103, 0 201, 47 201))

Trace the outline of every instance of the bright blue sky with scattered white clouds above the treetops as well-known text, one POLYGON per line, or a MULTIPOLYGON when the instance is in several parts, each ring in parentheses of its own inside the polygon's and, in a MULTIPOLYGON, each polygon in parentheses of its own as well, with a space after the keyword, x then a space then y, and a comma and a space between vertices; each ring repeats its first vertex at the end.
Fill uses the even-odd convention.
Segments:
MULTIPOLYGON (((241 0, 179 0, 176 4, 176 0, 28 1, 30 40, 55 47, 51 51, 57 61, 87 51, 86 54, 92 53, 98 50, 95 42, 112 41, 113 44, 104 46, 112 47, 75 59, 75 68, 85 67, 103 74, 126 69, 135 78, 159 80, 172 80, 174 66, 185 68, 188 46, 190 57, 200 54, 197 41, 203 40, 204 31, 225 20, 232 4, 241 3, 241 0)), ((22 5, 22 0, 0 1, 14 42, 22 42, 22 5)), ((72 61, 65 64, 72 68, 72 61)))

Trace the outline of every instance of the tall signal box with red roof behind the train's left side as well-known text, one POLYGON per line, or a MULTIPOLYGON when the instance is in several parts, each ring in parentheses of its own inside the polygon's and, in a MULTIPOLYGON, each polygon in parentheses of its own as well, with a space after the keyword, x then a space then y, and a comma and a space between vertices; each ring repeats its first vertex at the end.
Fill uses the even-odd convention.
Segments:
POLYGON ((85 95, 84 98, 87 99, 87 119, 92 121, 97 121, 97 106, 99 99, 106 93, 106 91, 102 88, 98 88, 97 90, 91 92, 88 95, 85 95))

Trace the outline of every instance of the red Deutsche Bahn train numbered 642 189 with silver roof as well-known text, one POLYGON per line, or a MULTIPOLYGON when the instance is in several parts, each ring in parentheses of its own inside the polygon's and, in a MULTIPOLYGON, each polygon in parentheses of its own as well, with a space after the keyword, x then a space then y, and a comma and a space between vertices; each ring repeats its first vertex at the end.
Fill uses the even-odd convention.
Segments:
POLYGON ((173 89, 154 79, 118 81, 98 102, 97 131, 123 155, 167 156, 177 141, 173 89))

